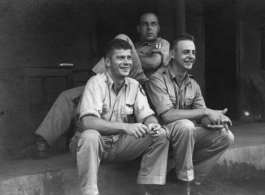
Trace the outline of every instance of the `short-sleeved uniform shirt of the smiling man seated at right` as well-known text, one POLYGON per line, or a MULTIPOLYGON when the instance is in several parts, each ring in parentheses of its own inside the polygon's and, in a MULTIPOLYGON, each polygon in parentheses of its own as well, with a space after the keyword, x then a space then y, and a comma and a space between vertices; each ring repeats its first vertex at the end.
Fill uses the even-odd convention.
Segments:
POLYGON ((149 77, 146 88, 158 116, 170 109, 206 108, 200 86, 194 77, 186 74, 179 87, 171 64, 149 77))

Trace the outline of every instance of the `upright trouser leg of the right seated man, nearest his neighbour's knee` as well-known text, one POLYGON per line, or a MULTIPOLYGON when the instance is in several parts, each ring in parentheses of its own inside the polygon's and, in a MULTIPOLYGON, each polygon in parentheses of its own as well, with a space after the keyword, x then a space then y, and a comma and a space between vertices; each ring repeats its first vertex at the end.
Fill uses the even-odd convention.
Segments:
POLYGON ((190 120, 178 120, 166 126, 170 134, 173 148, 175 171, 178 179, 191 181, 194 179, 192 154, 195 144, 195 126, 190 120))

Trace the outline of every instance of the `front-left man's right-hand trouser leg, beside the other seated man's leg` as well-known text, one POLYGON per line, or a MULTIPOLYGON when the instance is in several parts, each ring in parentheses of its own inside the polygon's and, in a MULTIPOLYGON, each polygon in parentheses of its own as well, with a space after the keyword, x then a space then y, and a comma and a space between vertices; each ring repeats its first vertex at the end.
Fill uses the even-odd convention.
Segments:
POLYGON ((115 153, 110 161, 129 161, 142 155, 137 183, 163 185, 166 182, 168 147, 169 140, 164 129, 161 129, 160 136, 156 138, 147 135, 135 139, 124 134, 114 145, 115 153))

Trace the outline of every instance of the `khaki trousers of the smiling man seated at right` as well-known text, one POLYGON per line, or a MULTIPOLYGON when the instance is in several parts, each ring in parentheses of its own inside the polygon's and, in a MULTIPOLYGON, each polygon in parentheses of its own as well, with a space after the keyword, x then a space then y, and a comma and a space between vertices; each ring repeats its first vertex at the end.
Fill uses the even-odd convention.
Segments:
POLYGON ((234 141, 231 131, 195 127, 186 119, 169 123, 165 128, 173 148, 176 175, 183 181, 191 181, 195 175, 201 183, 234 141))

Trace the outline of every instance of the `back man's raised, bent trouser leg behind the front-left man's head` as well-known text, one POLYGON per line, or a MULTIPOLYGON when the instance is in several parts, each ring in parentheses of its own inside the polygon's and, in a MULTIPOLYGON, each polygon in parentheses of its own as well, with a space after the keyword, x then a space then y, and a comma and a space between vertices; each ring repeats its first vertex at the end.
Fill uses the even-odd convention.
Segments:
MULTIPOLYGON (((136 52, 134 44, 132 43, 131 39, 124 34, 120 34, 115 37, 115 39, 122 39, 127 41, 132 46, 132 68, 129 74, 129 77, 139 81, 139 83, 143 84, 146 81, 146 76, 142 69, 142 64, 140 62, 139 56, 136 52)), ((92 69, 95 73, 101 73, 105 71, 105 63, 104 58, 102 58, 92 69)))

